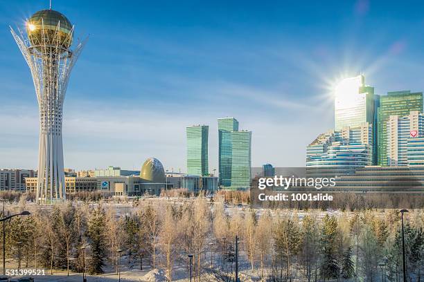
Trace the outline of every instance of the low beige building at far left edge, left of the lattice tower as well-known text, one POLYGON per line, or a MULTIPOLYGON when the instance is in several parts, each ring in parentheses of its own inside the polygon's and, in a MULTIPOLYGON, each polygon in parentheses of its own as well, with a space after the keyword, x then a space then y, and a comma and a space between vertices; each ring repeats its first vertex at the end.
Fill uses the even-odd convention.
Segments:
POLYGON ((0 191, 25 191, 26 179, 36 175, 30 169, 0 169, 0 191))

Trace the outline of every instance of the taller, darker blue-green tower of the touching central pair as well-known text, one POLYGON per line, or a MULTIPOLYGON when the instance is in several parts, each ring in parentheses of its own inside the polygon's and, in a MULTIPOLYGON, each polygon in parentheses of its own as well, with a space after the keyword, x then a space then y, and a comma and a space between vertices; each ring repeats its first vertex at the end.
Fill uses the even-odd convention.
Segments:
POLYGON ((231 164, 233 161, 233 146, 231 133, 238 131, 238 121, 235 118, 218 119, 218 147, 220 185, 231 186, 231 164))

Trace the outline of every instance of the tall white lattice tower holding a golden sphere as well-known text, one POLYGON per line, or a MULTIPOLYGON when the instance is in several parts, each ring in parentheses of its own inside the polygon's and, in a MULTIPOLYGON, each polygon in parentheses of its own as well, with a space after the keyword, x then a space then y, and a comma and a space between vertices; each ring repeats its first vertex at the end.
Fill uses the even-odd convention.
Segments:
POLYGON ((84 42, 72 50, 73 26, 55 10, 41 10, 26 21, 25 32, 12 28, 13 37, 33 75, 39 106, 37 203, 66 198, 62 113, 69 75, 84 42))

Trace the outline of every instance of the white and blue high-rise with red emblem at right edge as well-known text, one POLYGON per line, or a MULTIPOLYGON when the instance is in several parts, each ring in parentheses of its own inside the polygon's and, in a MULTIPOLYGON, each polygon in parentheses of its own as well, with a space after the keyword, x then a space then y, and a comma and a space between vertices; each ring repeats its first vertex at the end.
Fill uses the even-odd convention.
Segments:
POLYGON ((390 167, 405 166, 411 158, 414 164, 423 163, 421 140, 424 133, 424 115, 411 111, 399 117, 390 115, 387 121, 387 164, 390 167), (411 150, 411 151, 409 151, 411 150))

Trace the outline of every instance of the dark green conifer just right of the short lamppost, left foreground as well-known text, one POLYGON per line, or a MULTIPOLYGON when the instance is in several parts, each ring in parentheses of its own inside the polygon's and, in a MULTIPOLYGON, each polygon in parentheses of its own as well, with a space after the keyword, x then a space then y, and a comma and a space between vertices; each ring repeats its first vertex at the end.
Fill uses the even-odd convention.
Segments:
POLYGON ((91 249, 91 259, 87 263, 89 273, 102 274, 105 265, 105 233, 106 218, 103 207, 97 207, 90 213, 88 220, 87 238, 91 249))

